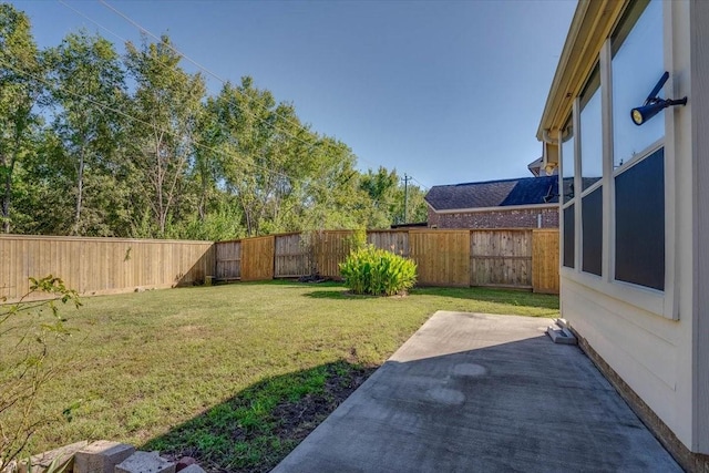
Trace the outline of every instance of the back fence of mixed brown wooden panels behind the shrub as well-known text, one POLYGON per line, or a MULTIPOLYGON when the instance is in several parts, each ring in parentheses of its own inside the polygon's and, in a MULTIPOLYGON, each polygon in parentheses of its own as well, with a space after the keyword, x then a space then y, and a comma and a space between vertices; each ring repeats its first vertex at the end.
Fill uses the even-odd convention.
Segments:
MULTIPOLYGON (((265 280, 317 271, 337 278, 352 235, 328 230, 217 243, 216 277, 265 280)), ((367 240, 417 261, 423 286, 512 287, 558 294, 556 229, 371 230, 367 240)))

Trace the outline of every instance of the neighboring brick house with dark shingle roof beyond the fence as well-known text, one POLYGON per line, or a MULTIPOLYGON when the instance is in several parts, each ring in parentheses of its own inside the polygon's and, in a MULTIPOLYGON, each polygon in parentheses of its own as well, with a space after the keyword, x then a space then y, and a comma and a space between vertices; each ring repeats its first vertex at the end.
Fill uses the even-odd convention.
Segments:
POLYGON ((433 186, 432 228, 558 228, 558 176, 433 186))

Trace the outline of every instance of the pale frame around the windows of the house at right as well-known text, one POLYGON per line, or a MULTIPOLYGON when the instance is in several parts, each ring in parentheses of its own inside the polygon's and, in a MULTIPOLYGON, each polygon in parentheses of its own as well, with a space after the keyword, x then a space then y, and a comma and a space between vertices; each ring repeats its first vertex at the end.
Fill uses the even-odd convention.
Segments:
MULTIPOLYGON (((649 2, 648 2, 649 3, 649 2)), ((643 10, 645 11, 645 10, 643 10)), ((641 13, 640 13, 641 14, 641 13)), ((634 21, 637 21, 637 16, 634 21)), ((635 25, 635 23, 634 23, 635 25)), ((626 29, 626 34, 631 31, 634 25, 628 27, 626 24, 620 23, 616 25, 616 30, 618 28, 626 29)), ((665 64, 665 69, 668 71, 676 70, 674 63, 672 55, 672 7, 671 2, 662 2, 662 60, 665 64)), ((615 33, 615 31, 614 31, 615 33)), ((676 163, 676 121, 675 114, 672 113, 672 109, 667 109, 664 112, 665 114, 665 136, 660 140, 648 145, 643 152, 638 153, 631 160, 623 163, 623 165, 615 168, 614 163, 614 128, 613 128, 613 37, 614 33, 609 34, 609 37, 604 42, 598 56, 598 68, 600 71, 600 94, 602 94, 602 136, 603 136, 603 177, 589 186, 587 189, 582 192, 577 192, 580 189, 580 179, 582 179, 582 161, 583 156, 580 155, 580 141, 583 136, 580 136, 580 95, 579 93, 575 96, 572 105, 572 123, 574 128, 574 197, 568 202, 563 202, 561 205, 561 213, 563 215, 563 210, 567 208, 569 205, 574 205, 574 268, 569 268, 563 265, 559 265, 559 274, 562 277, 566 278, 569 281, 575 284, 585 286, 598 292, 602 292, 608 297, 614 299, 623 300, 627 304, 630 304, 637 308, 640 308, 647 312, 650 312, 656 316, 664 317, 670 320, 679 319, 678 311, 678 295, 677 291, 679 288, 675 284, 675 274, 676 274, 676 241, 678 237, 679 229, 676 228, 676 217, 675 214, 678 212, 676 206, 678 205, 676 198, 676 182, 675 182, 675 163, 676 163), (626 282, 621 280, 615 279, 615 178, 619 174, 623 174, 625 171, 635 166, 643 160, 650 156, 660 147, 665 148, 665 290, 653 289, 649 287, 626 282), (583 196, 588 195, 594 192, 598 187, 603 186, 603 269, 602 276, 596 276, 594 274, 584 273, 583 271, 583 261, 582 261, 582 253, 583 253, 583 196)), ((595 66, 592 69, 592 73, 594 72, 595 66)), ((589 73, 589 80, 592 76, 589 73)), ((582 89, 583 92, 584 89, 582 89)), ((667 96, 671 95, 671 91, 675 90, 675 84, 672 81, 672 74, 670 74, 670 79, 667 81, 664 88, 667 96)), ((629 113, 628 113, 628 120, 629 113)), ((568 122, 565 122, 568 123, 568 122)), ((559 188, 563 189, 563 146, 562 136, 564 130, 559 130, 558 140, 559 140, 559 164, 562 168, 559 169, 559 188)), ((563 192, 563 191, 562 191, 563 192)), ((564 218, 561 218, 561 228, 559 230, 564 230, 564 226, 568 225, 564 218)), ((559 238, 562 241, 563 238, 559 238)), ((563 244, 559 248, 561 256, 564 255, 563 244)))

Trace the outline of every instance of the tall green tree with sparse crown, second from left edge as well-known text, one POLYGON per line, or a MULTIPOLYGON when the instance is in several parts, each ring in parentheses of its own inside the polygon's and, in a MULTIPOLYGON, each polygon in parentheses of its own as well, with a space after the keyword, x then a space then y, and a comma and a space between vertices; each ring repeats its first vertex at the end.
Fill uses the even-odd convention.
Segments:
POLYGON ((121 206, 117 153, 125 119, 125 80, 113 44, 85 31, 47 52, 61 142, 54 163, 73 189, 73 235, 113 235, 106 214, 121 206), (62 168, 64 167, 64 168, 62 168), (116 195, 117 193, 117 195, 116 195))

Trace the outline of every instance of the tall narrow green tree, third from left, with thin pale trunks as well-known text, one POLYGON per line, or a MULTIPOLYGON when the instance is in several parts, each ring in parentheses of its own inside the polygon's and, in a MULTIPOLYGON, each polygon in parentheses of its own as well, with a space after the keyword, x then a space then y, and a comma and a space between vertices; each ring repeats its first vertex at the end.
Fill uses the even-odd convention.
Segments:
POLYGON ((144 41, 140 49, 129 42, 126 50, 127 70, 136 82, 131 115, 137 120, 130 126, 136 200, 152 210, 155 236, 165 236, 194 197, 189 168, 205 83, 179 66, 181 56, 166 35, 156 43, 144 41))

